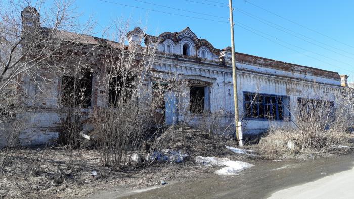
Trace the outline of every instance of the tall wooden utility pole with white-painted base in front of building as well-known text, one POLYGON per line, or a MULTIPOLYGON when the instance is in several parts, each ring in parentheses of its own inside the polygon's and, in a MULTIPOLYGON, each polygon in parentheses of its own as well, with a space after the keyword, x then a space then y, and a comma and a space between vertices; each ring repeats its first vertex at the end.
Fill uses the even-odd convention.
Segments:
POLYGON ((239 122, 239 108, 237 99, 237 75, 236 75, 236 64, 235 64, 235 40, 234 40, 234 18, 233 18, 233 7, 232 0, 229 0, 230 9, 230 29, 231 29, 231 57, 232 57, 232 79, 234 83, 234 107, 235 107, 235 128, 236 128, 236 138, 239 141, 239 145, 243 146, 242 138, 242 125, 239 122))

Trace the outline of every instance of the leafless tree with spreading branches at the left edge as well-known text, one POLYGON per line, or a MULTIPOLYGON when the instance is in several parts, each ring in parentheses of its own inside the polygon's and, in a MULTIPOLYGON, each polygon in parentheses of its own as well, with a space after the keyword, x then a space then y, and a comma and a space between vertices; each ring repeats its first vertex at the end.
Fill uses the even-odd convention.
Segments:
POLYGON ((19 144, 31 110, 57 108, 55 88, 83 59, 91 24, 78 24, 71 1, 6 1, 0 8, 0 124, 5 146, 19 144), (11 127, 16 124, 16 128, 11 127), (21 125, 20 125, 21 124, 21 125))

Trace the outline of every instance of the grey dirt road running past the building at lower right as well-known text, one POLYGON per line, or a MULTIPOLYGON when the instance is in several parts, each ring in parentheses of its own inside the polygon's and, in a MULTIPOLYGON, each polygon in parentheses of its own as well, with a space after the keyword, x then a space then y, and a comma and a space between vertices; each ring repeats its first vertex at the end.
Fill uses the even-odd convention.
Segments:
MULTIPOLYGON (((354 154, 307 161, 248 162, 254 164, 255 167, 241 172, 238 176, 224 177, 210 173, 147 191, 127 192, 115 189, 91 195, 89 198, 268 198, 272 194, 274 198, 289 198, 289 196, 308 198, 294 195, 302 190, 299 187, 288 189, 288 192, 284 192, 283 189, 323 178, 332 180, 337 177, 342 178, 347 174, 338 173, 353 168, 354 154), (333 175, 336 173, 337 175, 333 175)), ((325 187, 322 186, 322 188, 325 187)), ((351 189, 351 191, 354 195, 354 190, 351 189)))

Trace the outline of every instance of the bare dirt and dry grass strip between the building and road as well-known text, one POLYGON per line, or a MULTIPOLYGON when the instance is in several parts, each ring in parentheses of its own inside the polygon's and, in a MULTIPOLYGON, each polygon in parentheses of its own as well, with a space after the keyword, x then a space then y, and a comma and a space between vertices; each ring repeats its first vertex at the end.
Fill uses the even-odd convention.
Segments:
MULTIPOLYGON (((195 164, 198 155, 245 162, 272 162, 278 158, 311 159, 351 152, 350 146, 326 154, 289 151, 282 155, 269 155, 260 146, 250 145, 244 148, 255 150, 253 155, 235 154, 224 146, 236 146, 234 141, 217 143, 207 136, 195 134, 198 133, 187 132, 183 142, 164 140, 166 145, 163 147, 179 149, 189 155, 184 162, 155 162, 149 167, 145 167, 144 163, 132 163, 124 171, 100 167, 98 152, 94 149, 73 150, 72 158, 71 150, 63 146, 14 150, 11 161, 0 169, 0 198, 76 198, 118 186, 131 190, 141 189, 159 185, 161 181, 179 182, 212 173, 215 168, 195 164)), ((4 156, 5 152, 0 151, 0 161, 4 156)))

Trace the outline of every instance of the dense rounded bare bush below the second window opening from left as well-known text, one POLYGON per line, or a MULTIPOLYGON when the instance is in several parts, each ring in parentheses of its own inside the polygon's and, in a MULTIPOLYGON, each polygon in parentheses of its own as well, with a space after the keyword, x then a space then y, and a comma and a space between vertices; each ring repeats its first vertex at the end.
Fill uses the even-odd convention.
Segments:
POLYGON ((150 114, 131 103, 98 109, 92 122, 101 165, 115 169, 123 169, 139 152, 152 124, 150 114))

